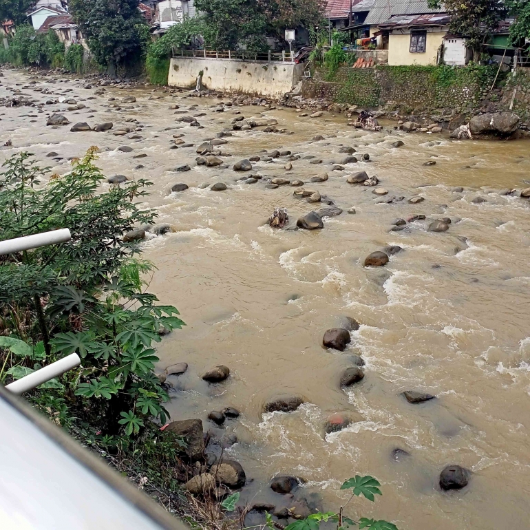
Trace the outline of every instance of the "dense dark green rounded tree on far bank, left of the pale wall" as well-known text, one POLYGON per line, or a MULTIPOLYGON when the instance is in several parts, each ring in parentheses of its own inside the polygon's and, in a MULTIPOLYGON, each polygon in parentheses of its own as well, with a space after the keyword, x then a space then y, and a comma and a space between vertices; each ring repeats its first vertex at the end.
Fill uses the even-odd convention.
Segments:
POLYGON ((142 53, 145 19, 138 0, 72 0, 70 12, 102 66, 116 67, 142 53))

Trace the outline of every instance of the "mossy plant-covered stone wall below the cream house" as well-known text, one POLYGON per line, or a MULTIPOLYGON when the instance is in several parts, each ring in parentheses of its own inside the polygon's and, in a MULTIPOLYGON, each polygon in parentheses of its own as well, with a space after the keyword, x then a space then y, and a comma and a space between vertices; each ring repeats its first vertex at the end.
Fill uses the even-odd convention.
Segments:
POLYGON ((450 108, 471 112, 491 86, 495 67, 388 66, 317 70, 302 94, 361 107, 395 104, 410 112, 450 108))

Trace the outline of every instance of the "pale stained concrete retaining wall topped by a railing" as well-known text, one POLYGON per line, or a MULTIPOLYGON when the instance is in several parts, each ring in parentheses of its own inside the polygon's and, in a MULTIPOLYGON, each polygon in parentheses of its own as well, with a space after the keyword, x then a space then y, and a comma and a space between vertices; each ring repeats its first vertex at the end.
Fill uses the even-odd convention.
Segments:
POLYGON ((304 75, 303 64, 174 57, 167 83, 194 88, 201 70, 202 84, 211 90, 274 97, 290 92, 304 75))

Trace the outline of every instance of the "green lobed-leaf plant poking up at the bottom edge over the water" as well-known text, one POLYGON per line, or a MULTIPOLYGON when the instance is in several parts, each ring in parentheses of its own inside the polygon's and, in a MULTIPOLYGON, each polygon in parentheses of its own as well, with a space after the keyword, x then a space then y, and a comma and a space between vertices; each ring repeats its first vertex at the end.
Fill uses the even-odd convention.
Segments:
MULTIPOLYGON (((372 476, 359 476, 356 475, 354 478, 348 478, 341 489, 351 489, 352 496, 348 499, 348 502, 341 507, 339 513, 334 511, 327 511, 324 513, 312 513, 310 516, 292 522, 286 526, 285 530, 319 530, 321 522, 336 522, 337 530, 343 530, 346 527, 359 526, 359 529, 369 530, 398 530, 395 524, 385 520, 374 520, 365 517, 359 518, 359 520, 353 520, 343 515, 343 509, 349 504, 350 500, 355 496, 360 497, 361 495, 368 500, 374 502, 374 495, 382 495, 379 487, 381 484, 372 476)), ((275 530, 273 518, 269 513, 266 516, 266 527, 270 530, 275 530)))

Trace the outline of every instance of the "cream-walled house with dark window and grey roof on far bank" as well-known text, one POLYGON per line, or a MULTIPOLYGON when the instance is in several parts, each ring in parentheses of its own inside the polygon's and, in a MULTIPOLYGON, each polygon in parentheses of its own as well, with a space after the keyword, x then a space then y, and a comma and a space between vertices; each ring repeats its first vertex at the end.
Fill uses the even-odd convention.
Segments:
POLYGON ((389 65, 436 65, 441 62, 449 16, 427 0, 375 0, 364 21, 370 36, 388 47, 389 65))

